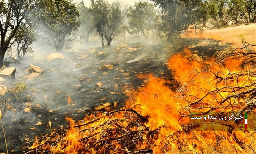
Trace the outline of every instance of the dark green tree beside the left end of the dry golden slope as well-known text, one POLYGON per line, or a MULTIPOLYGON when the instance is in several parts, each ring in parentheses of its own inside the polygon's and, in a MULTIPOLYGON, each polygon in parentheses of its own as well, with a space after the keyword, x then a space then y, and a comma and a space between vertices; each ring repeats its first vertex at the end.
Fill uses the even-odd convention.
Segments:
POLYGON ((158 31, 161 39, 172 40, 202 16, 202 0, 151 0, 161 9, 158 31))

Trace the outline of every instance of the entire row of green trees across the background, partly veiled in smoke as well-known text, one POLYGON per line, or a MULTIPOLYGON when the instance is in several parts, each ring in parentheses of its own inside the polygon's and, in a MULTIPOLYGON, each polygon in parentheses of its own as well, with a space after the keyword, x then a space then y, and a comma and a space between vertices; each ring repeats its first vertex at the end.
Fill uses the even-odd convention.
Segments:
POLYGON ((0 67, 11 47, 22 59, 33 52, 31 45, 39 38, 63 52, 78 30, 86 41, 95 32, 104 47, 117 36, 125 40, 127 33, 171 41, 184 30, 197 32, 206 23, 220 29, 256 21, 255 0, 140 0, 123 8, 118 1, 106 0, 91 0, 90 6, 72 0, 0 0, 0 9, 0 67))

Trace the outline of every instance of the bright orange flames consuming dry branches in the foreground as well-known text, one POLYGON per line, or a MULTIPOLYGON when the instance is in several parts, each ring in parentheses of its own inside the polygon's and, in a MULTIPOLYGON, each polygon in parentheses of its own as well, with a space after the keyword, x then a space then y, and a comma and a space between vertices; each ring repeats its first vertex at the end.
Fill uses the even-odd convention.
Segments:
POLYGON ((36 139, 31 153, 248 153, 256 147, 255 131, 236 131, 243 122, 233 125, 231 131, 191 131, 185 115, 243 108, 251 94, 246 91, 254 88, 254 67, 243 66, 238 57, 227 58, 224 64, 214 59, 199 63, 186 58, 191 54, 184 49, 168 60, 180 85, 176 91, 162 78, 140 75, 147 82, 129 95, 124 108, 92 114, 78 123, 66 118, 70 126, 44 140, 36 139))

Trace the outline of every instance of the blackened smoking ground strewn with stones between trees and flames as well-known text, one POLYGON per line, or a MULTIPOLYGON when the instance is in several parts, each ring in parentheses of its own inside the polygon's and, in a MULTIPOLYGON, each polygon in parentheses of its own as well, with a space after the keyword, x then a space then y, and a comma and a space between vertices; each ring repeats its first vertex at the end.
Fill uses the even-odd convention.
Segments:
MULTIPOLYGON (((136 77, 138 74, 153 73, 173 81, 171 71, 165 63, 168 57, 189 47, 192 52, 205 59, 230 46, 219 46, 219 42, 211 39, 181 39, 172 45, 136 43, 127 47, 70 50, 63 53, 64 60, 31 62, 27 59, 21 64, 11 62, 8 67, 17 68, 16 79, 7 79, 1 83, 8 87, 9 92, 4 96, 0 95, 9 153, 25 153, 27 146, 24 142, 31 141, 36 135, 49 133, 49 119, 52 129, 59 129, 68 125, 65 117, 76 121, 83 119, 87 114, 98 112, 94 107, 103 103, 110 102, 111 109, 123 107, 128 98, 123 92, 143 84, 142 79, 136 77), (24 71, 29 68, 30 63, 41 67, 44 72, 35 80, 25 80, 28 88, 24 92, 11 92, 15 83, 23 81, 26 75, 24 71), (105 64, 111 64, 114 68, 99 69, 105 64), (101 87, 96 85, 99 82, 102 83, 101 87), (71 106, 68 106, 68 95, 72 99, 71 106), (117 108, 113 107, 114 101, 118 103, 117 108), (31 112, 24 111, 27 107, 31 112), (42 125, 36 125, 38 122, 42 125)), ((169 86, 175 90, 177 83, 172 83, 169 86)), ((1 127, 0 153, 2 152, 6 150, 1 127)))

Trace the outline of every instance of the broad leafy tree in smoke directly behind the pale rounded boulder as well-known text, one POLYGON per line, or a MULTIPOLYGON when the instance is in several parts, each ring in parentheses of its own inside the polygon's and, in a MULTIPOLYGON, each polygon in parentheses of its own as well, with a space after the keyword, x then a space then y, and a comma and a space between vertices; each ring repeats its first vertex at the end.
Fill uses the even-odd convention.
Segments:
POLYGON ((80 26, 79 11, 72 0, 38 0, 34 15, 50 46, 57 52, 68 48, 80 26))

